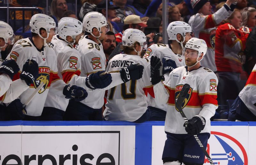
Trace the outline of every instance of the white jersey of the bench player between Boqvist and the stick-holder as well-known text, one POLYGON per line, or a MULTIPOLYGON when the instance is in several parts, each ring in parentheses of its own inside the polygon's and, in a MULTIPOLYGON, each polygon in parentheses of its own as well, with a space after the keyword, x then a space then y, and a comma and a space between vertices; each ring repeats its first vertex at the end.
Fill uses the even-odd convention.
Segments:
MULTIPOLYGON (((159 57, 161 60, 162 58, 167 59, 172 59, 175 61, 177 67, 185 66, 185 57, 180 54, 175 54, 172 51, 171 45, 168 44, 153 44, 150 47, 148 47, 145 55, 143 56, 144 58, 151 59, 151 56, 156 56, 159 57)), ((169 74, 164 75, 165 80, 169 79, 169 74)), ((164 81, 165 82, 165 81, 164 81)), ((157 104, 155 101, 155 98, 152 96, 148 95, 148 106, 153 106, 158 109, 166 111, 167 105, 166 104, 157 104)))

